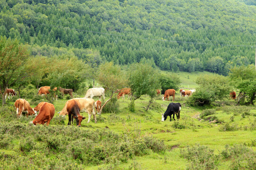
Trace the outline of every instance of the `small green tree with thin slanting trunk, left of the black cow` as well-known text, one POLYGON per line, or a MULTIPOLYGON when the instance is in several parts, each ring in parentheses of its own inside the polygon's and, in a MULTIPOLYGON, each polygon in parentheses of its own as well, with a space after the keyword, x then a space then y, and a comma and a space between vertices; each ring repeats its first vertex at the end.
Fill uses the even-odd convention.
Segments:
POLYGON ((140 98, 141 95, 150 96, 150 104, 156 96, 156 89, 160 88, 159 73, 147 63, 134 63, 128 70, 128 85, 131 88, 133 100, 140 98))

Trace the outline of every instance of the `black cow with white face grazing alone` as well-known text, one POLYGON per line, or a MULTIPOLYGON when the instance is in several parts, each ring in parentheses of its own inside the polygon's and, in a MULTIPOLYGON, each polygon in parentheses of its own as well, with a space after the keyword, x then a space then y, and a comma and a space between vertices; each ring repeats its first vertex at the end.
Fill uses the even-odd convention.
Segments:
POLYGON ((174 118, 174 114, 176 114, 177 119, 180 119, 180 111, 181 111, 180 103, 170 103, 165 113, 162 114, 162 121, 165 121, 167 119, 167 116, 170 116, 170 121, 172 121, 172 115, 174 118))

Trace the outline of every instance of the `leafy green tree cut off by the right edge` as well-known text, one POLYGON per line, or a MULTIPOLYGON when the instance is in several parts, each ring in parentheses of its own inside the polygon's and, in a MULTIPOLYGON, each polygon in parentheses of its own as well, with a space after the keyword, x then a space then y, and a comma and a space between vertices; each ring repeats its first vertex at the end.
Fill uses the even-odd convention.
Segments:
POLYGON ((238 104, 240 99, 246 97, 250 104, 254 105, 256 98, 256 70, 253 65, 240 66, 230 69, 230 79, 234 82, 233 85, 239 89, 238 104))

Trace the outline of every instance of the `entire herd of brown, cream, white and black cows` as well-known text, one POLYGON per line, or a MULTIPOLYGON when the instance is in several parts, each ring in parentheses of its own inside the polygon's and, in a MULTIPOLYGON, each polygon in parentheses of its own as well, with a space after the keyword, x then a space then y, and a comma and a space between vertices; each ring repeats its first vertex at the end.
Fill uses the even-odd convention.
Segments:
MULTIPOLYGON (((38 94, 47 95, 50 93, 49 92, 50 88, 51 88, 50 86, 40 87, 38 90, 38 94)), ((62 92, 63 94, 69 94, 73 98, 73 95, 72 95, 73 89, 64 89, 61 87, 59 88, 55 87, 53 91, 56 91, 57 89, 59 89, 59 91, 62 92)), ((180 95, 184 97, 191 96, 195 91, 196 90, 181 89, 180 95)), ((123 88, 123 89, 117 90, 117 92, 115 93, 118 93, 117 95, 118 99, 120 97, 125 99, 125 94, 128 94, 128 99, 129 99, 129 97, 131 96, 131 89, 123 88)), ((157 95, 160 95, 161 91, 157 89, 156 93, 157 95)), ((7 95, 9 98, 10 95, 14 96, 14 95, 17 95, 17 93, 13 89, 6 89, 4 95, 5 95, 5 98, 7 97, 7 95)), ((81 127, 81 122, 83 119, 85 119, 85 117, 81 116, 80 112, 87 112, 88 113, 87 123, 90 122, 91 115, 93 115, 94 122, 97 123, 96 113, 94 111, 94 108, 99 114, 101 110, 101 101, 98 100, 95 102, 92 98, 99 97, 101 99, 101 96, 103 97, 103 99, 105 99, 104 88, 102 87, 90 88, 87 90, 84 98, 73 98, 68 100, 65 103, 64 108, 60 112, 58 112, 59 116, 68 115, 68 125, 71 125, 71 123, 73 123, 73 119, 75 119, 76 125, 78 127, 81 127)), ((167 116, 170 116, 170 121, 171 121, 171 116, 173 115, 173 119, 174 119, 175 114, 177 119, 180 119, 180 111, 181 111, 182 105, 180 103, 174 103, 174 98, 175 98, 174 89, 168 89, 165 91, 165 94, 162 97, 163 101, 165 100, 169 101, 169 96, 173 96, 173 102, 168 105, 165 113, 162 114, 162 121, 165 121, 167 119, 167 116)), ((230 97, 231 99, 236 99, 236 93, 234 91, 231 91, 229 93, 229 98, 230 97)), ((57 100, 56 95, 55 95, 55 98, 57 100)), ((35 115, 36 118, 30 122, 31 124, 34 124, 34 125, 37 125, 37 124, 44 125, 45 123, 46 125, 49 125, 50 120, 54 117, 54 114, 55 114, 54 105, 48 102, 40 102, 35 108, 31 108, 30 104, 25 99, 17 99, 14 105, 17 112, 17 117, 20 117, 22 112, 25 112, 26 116, 35 115), (39 113, 37 115, 38 111, 39 113)))

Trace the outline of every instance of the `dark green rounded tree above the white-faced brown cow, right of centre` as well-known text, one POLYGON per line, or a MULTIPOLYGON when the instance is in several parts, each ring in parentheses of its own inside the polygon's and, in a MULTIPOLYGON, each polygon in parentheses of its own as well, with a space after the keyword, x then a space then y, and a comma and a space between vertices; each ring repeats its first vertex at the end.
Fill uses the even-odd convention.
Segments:
POLYGON ((172 75, 161 75, 160 84, 161 84, 161 93, 164 94, 168 89, 178 90, 181 80, 178 76, 172 75))

